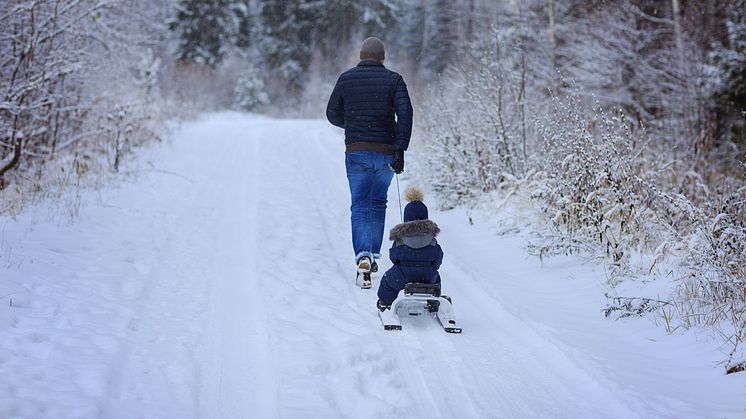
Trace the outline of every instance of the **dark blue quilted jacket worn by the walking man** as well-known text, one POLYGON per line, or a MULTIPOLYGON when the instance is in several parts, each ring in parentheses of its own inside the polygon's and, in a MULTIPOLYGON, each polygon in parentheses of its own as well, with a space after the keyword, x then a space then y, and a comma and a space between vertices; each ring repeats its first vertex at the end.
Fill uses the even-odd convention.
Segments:
POLYGON ((363 60, 339 76, 326 118, 344 128, 345 144, 374 142, 403 151, 412 135, 407 85, 402 76, 375 60, 363 60))

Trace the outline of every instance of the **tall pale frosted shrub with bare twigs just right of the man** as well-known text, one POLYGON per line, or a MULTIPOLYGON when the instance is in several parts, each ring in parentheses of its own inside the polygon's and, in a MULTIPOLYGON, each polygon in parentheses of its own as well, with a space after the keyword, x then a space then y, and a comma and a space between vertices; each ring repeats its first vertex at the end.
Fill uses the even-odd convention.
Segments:
POLYGON ((529 145, 523 50, 493 29, 433 89, 423 110, 424 159, 443 204, 463 203, 522 175, 529 145), (508 45, 505 47, 502 43, 508 45))

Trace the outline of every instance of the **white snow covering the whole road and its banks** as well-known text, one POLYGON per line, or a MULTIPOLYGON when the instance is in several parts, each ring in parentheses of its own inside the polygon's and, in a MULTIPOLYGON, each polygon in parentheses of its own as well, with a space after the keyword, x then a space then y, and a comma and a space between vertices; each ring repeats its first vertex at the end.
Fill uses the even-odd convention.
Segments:
MULTIPOLYGON (((542 265, 432 195, 464 332, 383 331, 380 278, 354 286, 325 121, 211 114, 131 171, 72 223, 44 206, 0 219, 0 417, 746 415, 746 374, 724 375, 715 340, 605 319, 602 269, 542 265)), ((389 202, 391 227, 395 186, 389 202)))

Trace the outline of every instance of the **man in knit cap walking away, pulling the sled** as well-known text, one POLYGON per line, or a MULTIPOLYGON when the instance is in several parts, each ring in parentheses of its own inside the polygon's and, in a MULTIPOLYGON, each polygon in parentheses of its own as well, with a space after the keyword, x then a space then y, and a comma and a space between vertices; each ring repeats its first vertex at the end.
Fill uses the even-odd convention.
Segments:
POLYGON ((363 41, 360 63, 339 76, 326 117, 345 130, 345 166, 352 205, 357 284, 370 288, 381 256, 386 202, 394 173, 404 170, 412 134, 412 103, 402 77, 383 66, 383 42, 363 41))

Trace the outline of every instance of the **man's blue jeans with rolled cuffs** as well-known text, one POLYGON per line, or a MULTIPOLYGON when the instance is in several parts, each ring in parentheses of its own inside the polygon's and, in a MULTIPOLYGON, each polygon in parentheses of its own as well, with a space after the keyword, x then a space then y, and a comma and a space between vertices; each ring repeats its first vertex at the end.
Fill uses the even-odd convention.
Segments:
POLYGON ((386 202, 394 171, 390 154, 377 151, 353 151, 345 154, 347 181, 352 205, 352 248, 355 261, 363 256, 373 260, 381 255, 386 202))

